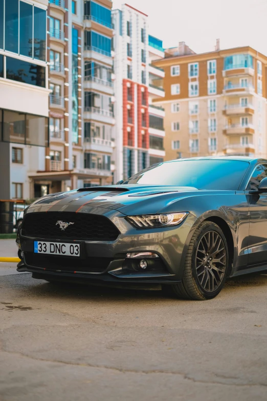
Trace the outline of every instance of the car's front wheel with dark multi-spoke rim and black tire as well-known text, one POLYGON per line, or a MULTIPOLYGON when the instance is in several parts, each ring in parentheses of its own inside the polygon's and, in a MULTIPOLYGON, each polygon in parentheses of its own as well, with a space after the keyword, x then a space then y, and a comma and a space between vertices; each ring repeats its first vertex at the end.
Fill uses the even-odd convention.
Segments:
POLYGON ((169 284, 165 290, 175 298, 209 300, 221 291, 228 269, 225 235, 217 224, 204 221, 196 228, 189 243, 181 283, 169 284))

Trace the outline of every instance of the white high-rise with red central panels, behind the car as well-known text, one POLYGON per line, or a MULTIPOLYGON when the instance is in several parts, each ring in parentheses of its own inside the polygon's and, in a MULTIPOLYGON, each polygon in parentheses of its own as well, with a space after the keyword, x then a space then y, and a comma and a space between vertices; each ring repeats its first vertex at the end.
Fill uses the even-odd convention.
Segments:
POLYGON ((148 32, 148 16, 125 4, 113 10, 115 72, 115 182, 163 161, 164 70, 151 64, 164 57, 162 41, 148 32))

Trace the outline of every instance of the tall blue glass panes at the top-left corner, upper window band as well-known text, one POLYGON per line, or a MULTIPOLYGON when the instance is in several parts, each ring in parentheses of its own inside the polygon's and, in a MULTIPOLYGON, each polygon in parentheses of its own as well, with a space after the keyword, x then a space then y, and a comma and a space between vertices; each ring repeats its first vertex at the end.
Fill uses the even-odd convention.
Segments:
POLYGON ((0 48, 46 61, 46 19, 47 12, 42 8, 18 0, 0 0, 0 48))

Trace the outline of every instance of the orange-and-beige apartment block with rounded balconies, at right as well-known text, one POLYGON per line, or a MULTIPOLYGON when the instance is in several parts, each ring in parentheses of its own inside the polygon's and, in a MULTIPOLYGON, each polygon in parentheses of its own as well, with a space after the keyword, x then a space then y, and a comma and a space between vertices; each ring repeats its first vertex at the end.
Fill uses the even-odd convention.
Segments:
MULTIPOLYGON (((247 46, 203 54, 184 43, 154 61, 165 70, 165 160, 267 157, 267 57, 247 46)), ((159 103, 159 102, 158 102, 159 103)))

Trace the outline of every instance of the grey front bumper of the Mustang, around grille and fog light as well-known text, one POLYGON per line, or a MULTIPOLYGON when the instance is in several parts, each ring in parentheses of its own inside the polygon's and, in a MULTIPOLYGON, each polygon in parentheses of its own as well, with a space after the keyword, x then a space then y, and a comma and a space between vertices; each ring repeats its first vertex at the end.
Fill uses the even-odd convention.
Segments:
MULTIPOLYGON (((183 273, 183 261, 187 251, 187 245, 191 238, 196 218, 189 214, 188 217, 176 227, 164 227, 157 229, 136 229, 130 225, 117 210, 104 210, 104 214, 118 227, 120 235, 116 241, 79 241, 82 246, 81 258, 73 261, 70 258, 61 257, 59 266, 56 256, 51 263, 35 263, 33 258, 33 242, 64 242, 62 239, 25 237, 19 230, 17 237, 18 248, 23 251, 24 258, 17 265, 17 271, 29 271, 34 278, 53 278, 59 281, 84 281, 98 283, 144 283, 144 284, 174 284, 181 281, 183 273), (137 271, 130 267, 126 255, 133 252, 153 252, 159 256, 156 266, 150 269, 137 271), (68 269, 64 268, 62 258, 65 258, 68 269), (68 258, 68 261, 67 259, 68 258), (96 267, 101 260, 104 268, 98 271, 96 267), (106 261, 106 265, 105 265, 106 261), (86 263, 91 268, 86 271, 86 263), (80 266, 83 266, 82 268, 80 266)), ((103 214, 103 209, 94 213, 103 214)), ((34 254, 38 257, 38 254, 34 254)), ((59 261, 59 260, 58 260, 59 261)))

